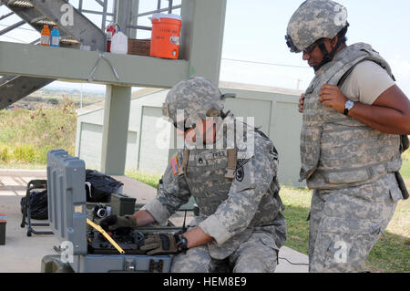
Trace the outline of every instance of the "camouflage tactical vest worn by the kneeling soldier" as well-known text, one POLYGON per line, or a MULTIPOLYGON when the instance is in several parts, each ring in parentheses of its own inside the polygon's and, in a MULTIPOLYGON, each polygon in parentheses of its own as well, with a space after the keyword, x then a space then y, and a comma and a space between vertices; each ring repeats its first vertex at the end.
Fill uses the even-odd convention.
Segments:
MULTIPOLYGON (((231 184, 237 175, 236 150, 184 150, 181 174, 190 187, 200 215, 215 213, 220 203, 229 197, 231 184)), ((274 177, 269 193, 264 195, 249 227, 272 223, 282 208, 279 183, 274 177)))

